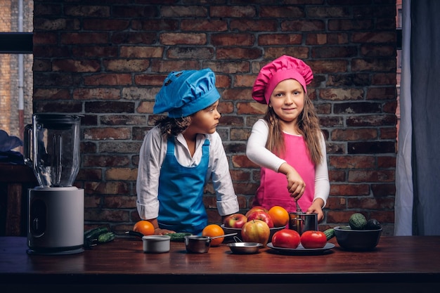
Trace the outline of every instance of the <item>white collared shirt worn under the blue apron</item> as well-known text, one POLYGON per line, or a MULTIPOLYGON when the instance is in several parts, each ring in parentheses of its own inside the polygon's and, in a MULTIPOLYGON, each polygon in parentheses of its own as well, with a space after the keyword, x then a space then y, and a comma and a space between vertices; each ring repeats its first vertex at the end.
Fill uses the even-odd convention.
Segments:
MULTIPOLYGON (((198 134, 193 157, 182 134, 176 136, 175 156, 184 167, 194 167, 202 158, 202 145, 209 139, 209 165, 207 181, 212 179, 216 193, 216 204, 221 216, 234 214, 238 211, 238 200, 235 195, 229 164, 224 146, 217 132, 214 134, 198 134)), ((160 167, 167 154, 167 136, 163 136, 158 126, 154 127, 143 140, 139 154, 136 206, 141 219, 155 219, 159 214, 160 167)))

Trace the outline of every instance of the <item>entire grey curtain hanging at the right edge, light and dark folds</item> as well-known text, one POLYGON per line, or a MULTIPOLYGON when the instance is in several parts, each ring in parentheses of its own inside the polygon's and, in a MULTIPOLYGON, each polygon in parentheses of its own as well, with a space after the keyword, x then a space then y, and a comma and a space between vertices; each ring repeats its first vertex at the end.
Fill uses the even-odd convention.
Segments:
POLYGON ((440 1, 403 0, 395 235, 440 235, 440 1))

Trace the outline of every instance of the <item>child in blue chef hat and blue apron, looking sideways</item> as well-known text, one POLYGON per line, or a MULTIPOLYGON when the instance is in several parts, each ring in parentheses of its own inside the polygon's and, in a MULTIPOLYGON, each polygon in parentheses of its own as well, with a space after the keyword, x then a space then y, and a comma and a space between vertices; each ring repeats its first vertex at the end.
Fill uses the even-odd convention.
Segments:
POLYGON ((136 182, 141 219, 155 234, 200 234, 207 226, 203 190, 212 180, 221 216, 238 211, 229 164, 216 132, 220 94, 212 70, 171 72, 153 112, 168 112, 145 136, 136 182))

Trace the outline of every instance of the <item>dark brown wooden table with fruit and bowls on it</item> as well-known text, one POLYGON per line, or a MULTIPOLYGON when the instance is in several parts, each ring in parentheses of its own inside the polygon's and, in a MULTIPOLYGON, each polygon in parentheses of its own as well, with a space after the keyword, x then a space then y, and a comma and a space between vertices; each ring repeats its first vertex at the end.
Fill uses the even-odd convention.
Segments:
POLYGON ((117 238, 41 256, 26 253, 25 237, 0 237, 0 292, 439 292, 440 236, 382 237, 371 252, 330 242, 328 254, 311 256, 231 254, 226 245, 188 254, 181 242, 145 254, 138 238, 117 238))

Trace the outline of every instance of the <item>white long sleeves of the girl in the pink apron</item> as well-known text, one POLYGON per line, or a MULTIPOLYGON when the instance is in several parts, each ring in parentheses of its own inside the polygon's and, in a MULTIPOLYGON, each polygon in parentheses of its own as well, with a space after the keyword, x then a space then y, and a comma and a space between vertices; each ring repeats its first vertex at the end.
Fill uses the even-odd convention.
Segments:
MULTIPOLYGON (((250 137, 247 140, 246 155, 255 164, 278 172, 281 164, 286 161, 266 148, 268 133, 268 124, 264 119, 259 119, 255 122, 254 126, 252 126, 250 137)), ((323 160, 315 166, 315 195, 313 199, 321 198, 325 206, 330 193, 330 181, 328 178, 325 139, 322 134, 320 142, 323 160)))

